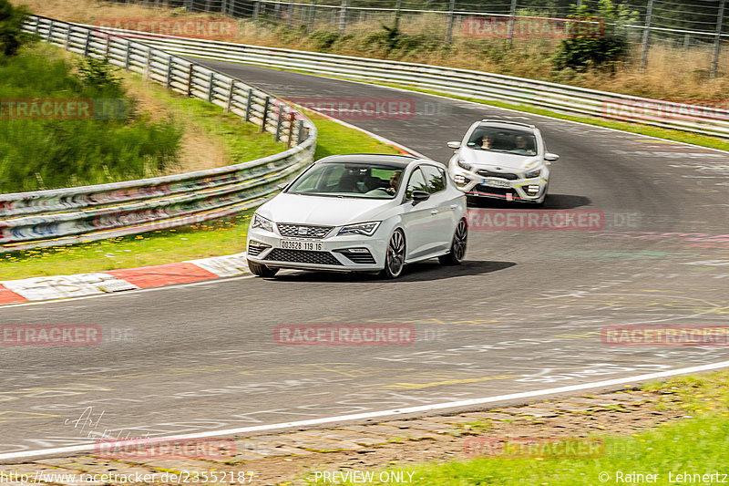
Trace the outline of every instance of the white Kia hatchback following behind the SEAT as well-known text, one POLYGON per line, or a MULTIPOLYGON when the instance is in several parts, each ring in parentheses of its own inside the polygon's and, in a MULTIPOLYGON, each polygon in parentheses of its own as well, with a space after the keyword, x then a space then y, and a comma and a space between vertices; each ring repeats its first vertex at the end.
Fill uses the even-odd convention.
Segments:
POLYGON ((549 153, 539 129, 516 121, 484 119, 450 141, 448 171, 469 196, 541 204, 549 188, 549 153))

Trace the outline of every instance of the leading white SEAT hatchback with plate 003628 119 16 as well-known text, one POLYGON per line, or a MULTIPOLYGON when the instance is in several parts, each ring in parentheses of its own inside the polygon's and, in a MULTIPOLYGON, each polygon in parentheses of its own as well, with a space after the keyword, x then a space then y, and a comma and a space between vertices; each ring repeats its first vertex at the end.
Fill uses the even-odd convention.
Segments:
POLYGON ((378 272, 438 257, 460 264, 466 197, 438 162, 400 155, 333 155, 313 163, 253 214, 248 265, 378 272))

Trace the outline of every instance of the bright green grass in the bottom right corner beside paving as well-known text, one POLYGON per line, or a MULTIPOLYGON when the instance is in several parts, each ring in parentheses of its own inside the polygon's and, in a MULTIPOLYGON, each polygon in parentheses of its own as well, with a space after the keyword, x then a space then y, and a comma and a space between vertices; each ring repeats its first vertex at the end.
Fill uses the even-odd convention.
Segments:
POLYGON ((729 372, 674 377, 644 388, 664 395, 662 407, 683 409, 691 419, 663 423, 658 429, 631 436, 590 435, 590 439, 602 439, 605 445, 604 455, 597 459, 497 457, 426 464, 409 469, 414 472, 412 483, 439 486, 722 483, 721 476, 696 481, 693 474, 726 472, 729 372), (640 481, 635 476, 629 479, 628 475, 634 473, 658 476, 655 481, 640 481), (678 476, 686 473, 692 475, 693 481, 678 476), (605 478, 607 481, 601 481, 605 478))

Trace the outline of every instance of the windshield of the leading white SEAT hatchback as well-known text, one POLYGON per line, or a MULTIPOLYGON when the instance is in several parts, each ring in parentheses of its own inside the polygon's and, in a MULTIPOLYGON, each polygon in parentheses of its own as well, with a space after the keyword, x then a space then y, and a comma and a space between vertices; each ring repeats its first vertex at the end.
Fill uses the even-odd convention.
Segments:
POLYGON ((403 168, 389 164, 315 164, 286 190, 313 196, 392 199, 403 168))

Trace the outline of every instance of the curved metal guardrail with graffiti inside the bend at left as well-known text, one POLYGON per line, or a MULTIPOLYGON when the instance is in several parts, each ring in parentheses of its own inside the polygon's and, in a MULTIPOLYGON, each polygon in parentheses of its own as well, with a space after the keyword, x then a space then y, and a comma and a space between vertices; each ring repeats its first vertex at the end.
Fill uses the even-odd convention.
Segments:
POLYGON ((166 88, 221 106, 286 141, 290 149, 207 171, 0 194, 2 251, 93 241, 229 216, 262 203, 279 183, 313 161, 317 132, 312 121, 261 89, 163 49, 94 28, 40 16, 31 16, 24 28, 51 44, 83 56, 107 57, 111 64, 166 88))

